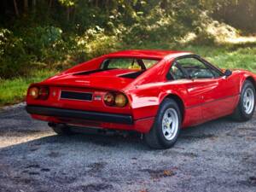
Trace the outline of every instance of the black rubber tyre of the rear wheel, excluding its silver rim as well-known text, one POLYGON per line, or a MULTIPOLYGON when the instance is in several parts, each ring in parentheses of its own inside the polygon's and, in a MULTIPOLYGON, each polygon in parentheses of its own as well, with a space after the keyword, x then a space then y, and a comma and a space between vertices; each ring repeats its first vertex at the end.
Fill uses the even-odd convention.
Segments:
POLYGON ((171 148, 177 142, 177 137, 181 128, 181 122, 182 114, 180 108, 177 105, 177 102, 175 102, 173 99, 166 98, 160 104, 159 111, 154 119, 154 125, 152 126, 151 130, 144 135, 144 141, 148 144, 150 148, 171 148), (174 109, 177 113, 178 119, 177 131, 172 140, 166 139, 162 131, 162 120, 167 109, 174 109))

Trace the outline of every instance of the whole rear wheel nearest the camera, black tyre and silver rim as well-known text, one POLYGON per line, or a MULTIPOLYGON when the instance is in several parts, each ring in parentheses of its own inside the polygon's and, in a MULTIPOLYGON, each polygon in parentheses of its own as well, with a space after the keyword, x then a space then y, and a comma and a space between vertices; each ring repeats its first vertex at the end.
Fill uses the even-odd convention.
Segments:
POLYGON ((145 134, 145 142, 151 148, 171 148, 177 141, 182 115, 173 99, 166 98, 161 104, 151 130, 145 134))

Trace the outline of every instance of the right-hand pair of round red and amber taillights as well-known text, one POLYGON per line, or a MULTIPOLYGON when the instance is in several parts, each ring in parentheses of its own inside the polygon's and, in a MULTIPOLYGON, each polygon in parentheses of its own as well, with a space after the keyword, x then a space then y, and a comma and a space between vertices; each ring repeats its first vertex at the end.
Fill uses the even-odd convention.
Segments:
POLYGON ((104 102, 111 107, 123 108, 128 103, 127 97, 122 93, 108 92, 104 96, 104 102))

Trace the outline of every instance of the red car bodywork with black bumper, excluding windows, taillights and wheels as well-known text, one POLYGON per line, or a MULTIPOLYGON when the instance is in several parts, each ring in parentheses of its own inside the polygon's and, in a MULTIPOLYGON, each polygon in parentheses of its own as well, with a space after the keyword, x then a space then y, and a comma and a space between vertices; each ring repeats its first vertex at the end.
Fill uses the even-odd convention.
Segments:
MULTIPOLYGON (((183 113, 182 127, 198 125, 233 113, 239 102, 241 87, 248 79, 255 85, 256 75, 234 70, 214 79, 166 79, 173 61, 193 55, 184 51, 125 50, 102 55, 72 67, 31 87, 49 88, 46 100, 33 99, 28 93, 26 109, 32 118, 52 123, 83 125, 103 129, 147 133, 154 124, 160 103, 171 97, 183 113), (137 58, 158 60, 136 79, 120 77, 132 69, 95 71, 107 58, 137 58), (79 73, 79 75, 78 75, 79 73), (61 91, 91 93, 91 101, 61 99, 61 91), (103 97, 109 91, 125 94, 128 104, 111 107, 103 97)), ((200 58, 197 55, 193 55, 200 58)))

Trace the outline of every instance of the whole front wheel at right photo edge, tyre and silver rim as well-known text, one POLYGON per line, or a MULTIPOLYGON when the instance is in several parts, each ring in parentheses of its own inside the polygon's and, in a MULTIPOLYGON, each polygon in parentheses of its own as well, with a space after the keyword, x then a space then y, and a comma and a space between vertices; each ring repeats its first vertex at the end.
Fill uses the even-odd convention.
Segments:
POLYGON ((251 81, 246 80, 241 89, 241 96, 232 118, 247 121, 253 117, 255 110, 255 88, 251 81))

